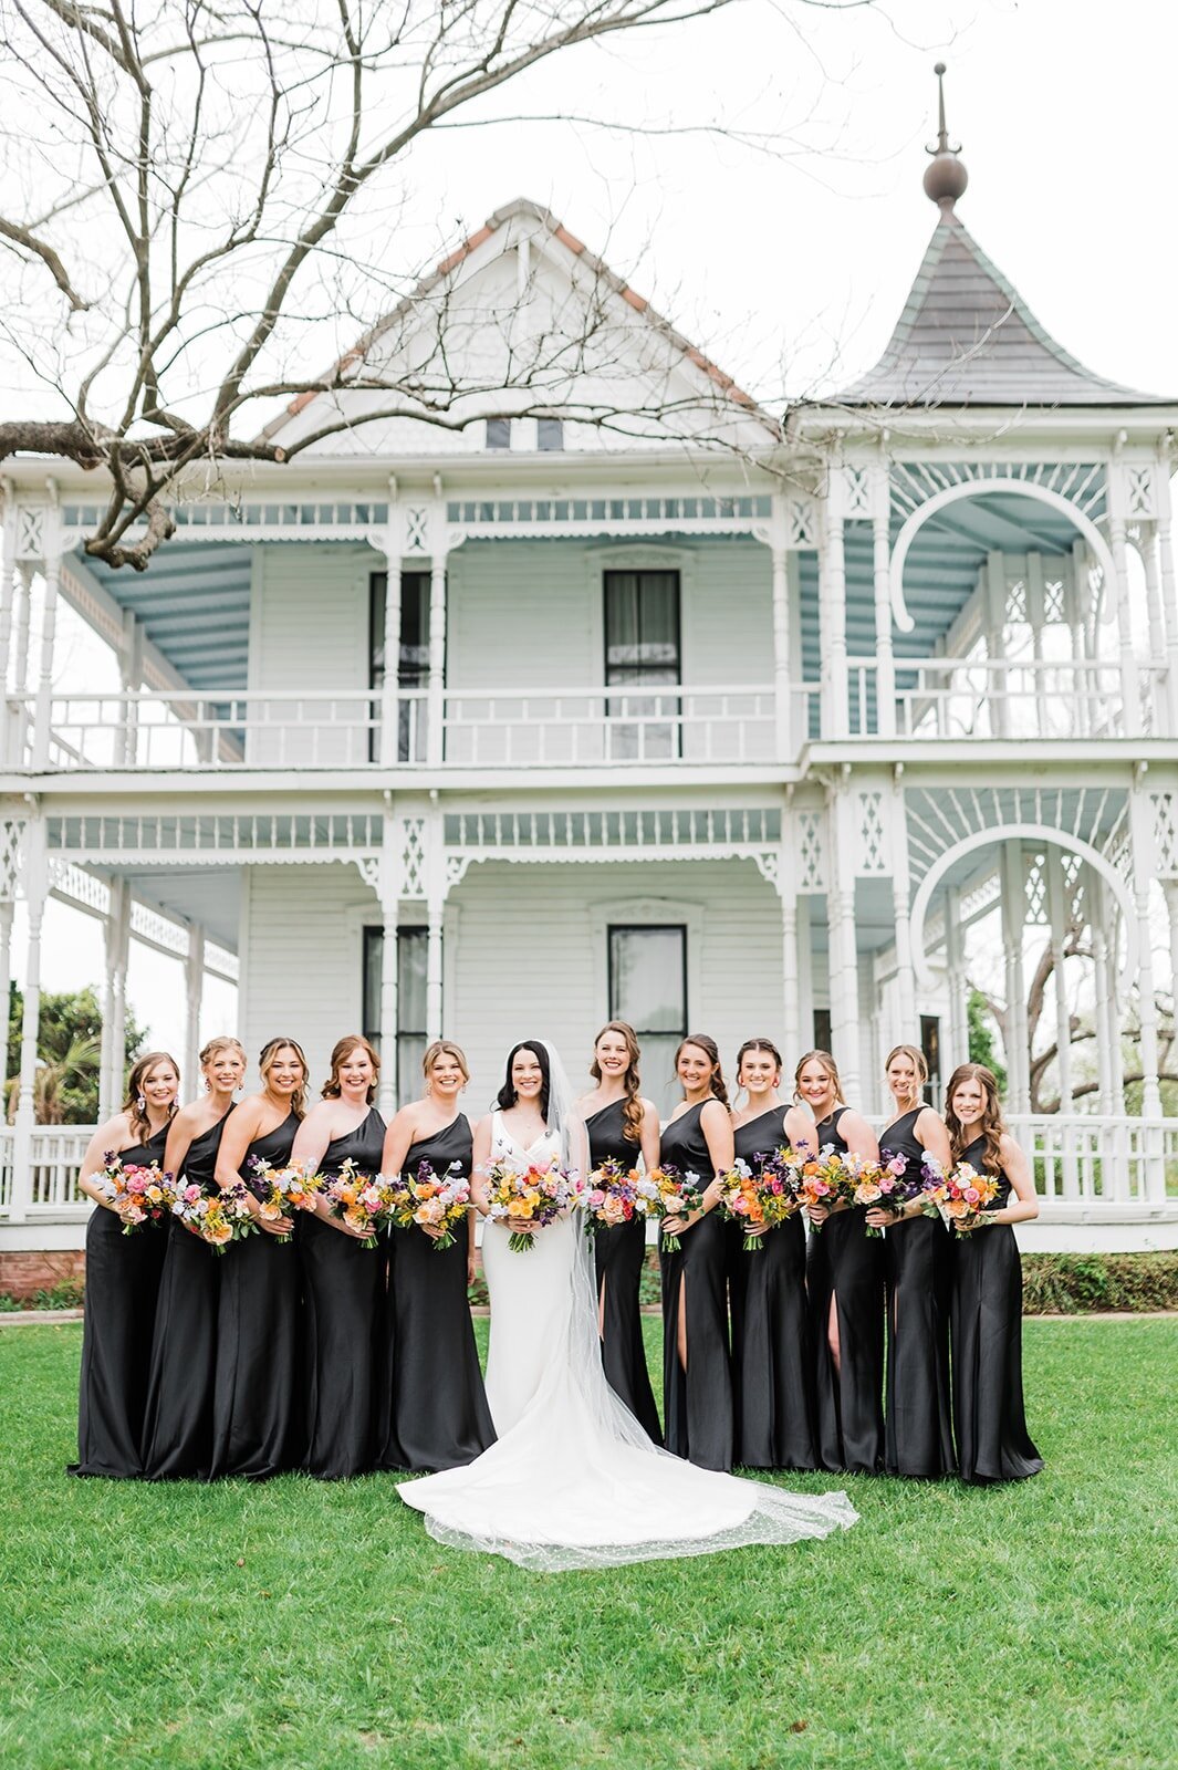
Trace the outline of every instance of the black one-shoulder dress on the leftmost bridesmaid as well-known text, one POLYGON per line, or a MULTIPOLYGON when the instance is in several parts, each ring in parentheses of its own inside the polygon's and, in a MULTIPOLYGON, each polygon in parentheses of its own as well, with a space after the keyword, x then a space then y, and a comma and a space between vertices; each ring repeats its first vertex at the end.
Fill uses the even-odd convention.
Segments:
MULTIPOLYGON (((119 1156, 127 1166, 163 1163, 168 1126, 119 1156)), ((87 1296, 78 1389, 78 1462, 69 1474, 143 1474, 140 1443, 147 1370, 168 1243, 166 1223, 122 1234, 115 1211, 96 1205, 87 1223, 87 1296)))

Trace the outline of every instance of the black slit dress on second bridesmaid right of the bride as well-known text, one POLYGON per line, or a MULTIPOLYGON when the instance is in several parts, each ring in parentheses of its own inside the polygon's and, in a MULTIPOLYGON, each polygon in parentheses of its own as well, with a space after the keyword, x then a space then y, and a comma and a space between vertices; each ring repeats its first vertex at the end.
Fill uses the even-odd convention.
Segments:
MULTIPOLYGON (((660 1159, 679 1174, 715 1177, 700 1112, 688 1108, 663 1129, 660 1159)), ((732 1467, 732 1366, 729 1359, 727 1237, 709 1211, 679 1237, 679 1253, 660 1248, 663 1281, 663 1414, 667 1450, 700 1469, 732 1467), (679 1287, 686 1283, 688 1368, 679 1363, 679 1287)))

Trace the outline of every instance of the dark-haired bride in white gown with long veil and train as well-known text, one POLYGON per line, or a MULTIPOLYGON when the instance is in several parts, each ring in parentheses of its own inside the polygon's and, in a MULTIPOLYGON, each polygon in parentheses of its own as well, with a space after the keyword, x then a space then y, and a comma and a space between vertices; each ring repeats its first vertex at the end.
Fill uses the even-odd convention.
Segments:
POLYGON ((486 1400, 499 1435, 465 1467, 398 1485, 430 1535, 561 1572, 791 1543, 854 1524, 845 1494, 789 1494, 697 1469, 651 1443, 601 1370, 593 1244, 577 1214, 538 1230, 525 1253, 508 1241, 529 1225, 486 1216, 478 1168, 504 1159, 584 1172, 568 1078, 538 1039, 513 1048, 499 1104, 474 1135, 492 1301, 486 1400))

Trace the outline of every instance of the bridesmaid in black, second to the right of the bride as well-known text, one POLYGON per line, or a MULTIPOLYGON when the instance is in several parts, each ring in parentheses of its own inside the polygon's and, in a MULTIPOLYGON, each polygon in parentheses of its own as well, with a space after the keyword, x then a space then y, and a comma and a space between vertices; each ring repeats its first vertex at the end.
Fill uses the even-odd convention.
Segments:
POLYGON ((662 1138, 662 1161, 695 1174, 702 1209, 665 1218, 663 1237, 679 1235, 677 1253, 660 1251, 663 1280, 663 1405, 667 1450, 702 1469, 732 1467, 732 1366, 723 1221, 716 1175, 732 1166, 732 1117, 716 1041, 692 1034, 676 1051, 683 1104, 662 1138))

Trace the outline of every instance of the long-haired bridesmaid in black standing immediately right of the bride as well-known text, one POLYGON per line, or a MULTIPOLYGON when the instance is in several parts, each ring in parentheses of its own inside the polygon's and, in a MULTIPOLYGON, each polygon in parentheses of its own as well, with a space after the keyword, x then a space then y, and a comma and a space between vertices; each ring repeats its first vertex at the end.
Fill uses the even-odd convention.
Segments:
MULTIPOLYGON (((624 1020, 612 1020, 593 1044, 589 1074, 598 1083, 577 1110, 589 1136, 589 1166, 621 1161, 624 1168, 658 1166, 658 1108, 639 1094, 639 1041, 624 1020)), ((646 1266, 646 1218, 598 1228, 593 1241, 598 1273, 598 1331, 610 1388, 642 1430, 663 1443, 642 1343, 639 1285, 646 1266)))

